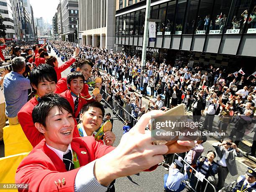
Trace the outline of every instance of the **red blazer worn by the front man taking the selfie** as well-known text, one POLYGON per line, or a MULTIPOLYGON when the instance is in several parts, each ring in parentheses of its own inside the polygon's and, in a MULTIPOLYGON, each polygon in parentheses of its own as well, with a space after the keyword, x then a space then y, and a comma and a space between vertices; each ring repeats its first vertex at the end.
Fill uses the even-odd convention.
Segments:
MULTIPOLYGON (((21 161, 15 175, 16 183, 29 183, 29 191, 31 192, 74 192, 75 177, 80 168, 67 172, 63 161, 45 143, 45 139, 42 140, 21 161), (62 178, 65 178, 66 184, 56 186, 55 181, 62 181, 62 178)), ((106 146, 95 141, 92 136, 73 138, 71 148, 76 152, 80 166, 84 166, 114 149, 112 146, 106 146)), ((20 189, 19 191, 28 190, 20 189)))

